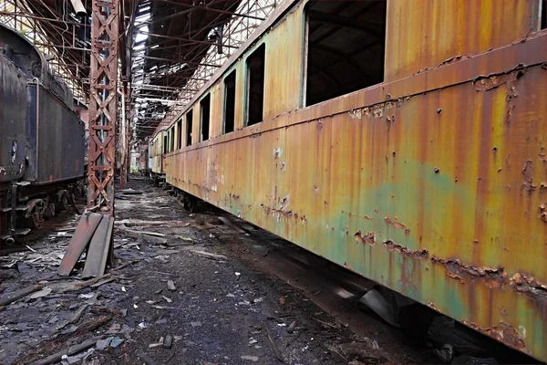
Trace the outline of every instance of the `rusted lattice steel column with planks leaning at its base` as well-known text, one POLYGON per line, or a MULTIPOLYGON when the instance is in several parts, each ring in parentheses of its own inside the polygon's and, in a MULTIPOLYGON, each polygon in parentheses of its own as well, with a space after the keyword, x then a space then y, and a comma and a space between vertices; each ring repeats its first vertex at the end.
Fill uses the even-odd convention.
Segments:
POLYGON ((91 16, 88 207, 113 215, 119 0, 93 0, 91 16))

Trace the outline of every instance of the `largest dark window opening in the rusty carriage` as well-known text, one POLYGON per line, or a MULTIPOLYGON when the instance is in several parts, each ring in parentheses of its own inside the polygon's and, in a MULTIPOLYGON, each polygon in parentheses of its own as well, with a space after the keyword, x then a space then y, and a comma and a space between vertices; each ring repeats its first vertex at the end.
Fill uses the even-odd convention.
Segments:
POLYGON ((317 1, 306 10, 304 105, 384 80, 386 1, 317 1))

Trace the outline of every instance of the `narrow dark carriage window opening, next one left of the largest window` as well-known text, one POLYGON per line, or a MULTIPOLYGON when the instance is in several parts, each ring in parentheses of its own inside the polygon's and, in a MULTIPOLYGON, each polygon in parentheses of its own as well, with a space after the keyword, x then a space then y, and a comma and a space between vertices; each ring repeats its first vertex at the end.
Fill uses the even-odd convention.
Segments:
POLYGON ((262 45, 247 58, 247 125, 263 120, 265 49, 262 45))

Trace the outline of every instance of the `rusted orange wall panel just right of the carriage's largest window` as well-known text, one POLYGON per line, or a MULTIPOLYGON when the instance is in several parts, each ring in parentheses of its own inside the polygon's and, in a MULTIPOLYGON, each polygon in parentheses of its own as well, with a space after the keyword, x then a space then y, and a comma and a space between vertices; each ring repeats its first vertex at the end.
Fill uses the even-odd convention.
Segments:
POLYGON ((539 3, 388 1, 386 81, 526 39, 537 30, 539 3))

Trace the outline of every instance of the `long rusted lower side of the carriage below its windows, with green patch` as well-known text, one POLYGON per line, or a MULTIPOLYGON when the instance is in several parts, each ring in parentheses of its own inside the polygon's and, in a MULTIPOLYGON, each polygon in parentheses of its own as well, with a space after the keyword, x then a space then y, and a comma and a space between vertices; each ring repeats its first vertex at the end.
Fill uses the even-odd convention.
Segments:
POLYGON ((194 144, 168 182, 547 360, 546 45, 194 144))

